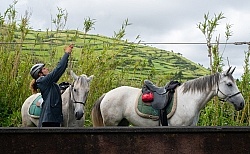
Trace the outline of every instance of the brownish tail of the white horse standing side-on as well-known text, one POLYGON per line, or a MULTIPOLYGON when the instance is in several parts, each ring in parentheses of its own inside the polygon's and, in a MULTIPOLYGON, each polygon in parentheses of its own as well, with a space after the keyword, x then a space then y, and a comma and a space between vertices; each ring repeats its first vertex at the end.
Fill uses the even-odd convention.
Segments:
POLYGON ((105 94, 103 94, 94 104, 91 112, 91 119, 93 123, 93 127, 101 127, 104 126, 102 114, 100 110, 100 104, 102 102, 102 99, 104 98, 105 94))

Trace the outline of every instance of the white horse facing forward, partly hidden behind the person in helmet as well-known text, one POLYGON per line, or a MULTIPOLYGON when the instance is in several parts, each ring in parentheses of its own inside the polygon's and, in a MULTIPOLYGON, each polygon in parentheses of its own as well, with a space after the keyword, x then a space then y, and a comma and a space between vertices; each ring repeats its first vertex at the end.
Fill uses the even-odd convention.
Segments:
MULTIPOLYGON (((74 78, 74 82, 62 94, 62 127, 83 127, 85 121, 84 105, 87 100, 90 81, 93 75, 90 77, 84 74, 77 76, 73 71, 70 71, 70 74, 74 78)), ((38 100, 38 97, 41 98, 41 93, 29 96, 23 103, 21 109, 23 127, 38 126, 39 115, 33 115, 30 112, 32 110, 40 113, 39 110, 41 109, 36 106, 36 102, 34 102, 38 100), (33 105, 33 107, 31 107, 31 105, 33 105)))

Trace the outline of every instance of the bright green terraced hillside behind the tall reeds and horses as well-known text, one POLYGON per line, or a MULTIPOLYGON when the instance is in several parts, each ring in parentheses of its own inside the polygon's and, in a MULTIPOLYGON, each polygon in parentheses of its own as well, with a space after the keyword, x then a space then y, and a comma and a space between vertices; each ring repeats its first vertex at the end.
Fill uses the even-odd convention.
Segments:
MULTIPOLYGON (((19 37, 20 35, 16 35, 19 37)), ((19 39, 19 38, 17 38, 19 39)), ((111 51, 119 51, 117 59, 123 61, 117 66, 117 71, 126 69, 131 72, 130 79, 141 80, 154 72, 157 76, 167 76, 168 79, 189 80, 207 75, 209 71, 204 67, 186 59, 181 54, 145 46, 138 43, 130 43, 123 40, 115 40, 100 35, 84 34, 83 32, 70 30, 61 32, 30 31, 26 36, 23 51, 34 54, 39 58, 51 57, 54 48, 63 48, 66 44, 74 43, 74 60, 77 61, 80 53, 84 54, 86 48, 99 54, 104 48, 111 51), (52 50, 52 51, 51 51, 52 50), (140 65, 145 67, 141 68, 140 65)), ((61 55, 54 55, 61 56, 61 55)))

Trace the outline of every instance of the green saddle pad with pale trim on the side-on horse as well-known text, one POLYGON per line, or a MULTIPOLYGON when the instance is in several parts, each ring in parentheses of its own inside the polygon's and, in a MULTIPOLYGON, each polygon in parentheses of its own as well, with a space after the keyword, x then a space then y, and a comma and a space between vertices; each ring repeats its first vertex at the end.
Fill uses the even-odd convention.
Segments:
MULTIPOLYGON (((138 101, 137 101, 137 105, 136 105, 137 114, 139 114, 140 116, 144 118, 158 120, 159 110, 154 109, 151 105, 145 104, 141 98, 142 98, 142 94, 140 94, 138 101)), ((173 102, 174 102, 174 98, 172 99, 172 101, 170 102, 170 104, 168 105, 166 109, 167 114, 169 114, 172 111, 173 102)))

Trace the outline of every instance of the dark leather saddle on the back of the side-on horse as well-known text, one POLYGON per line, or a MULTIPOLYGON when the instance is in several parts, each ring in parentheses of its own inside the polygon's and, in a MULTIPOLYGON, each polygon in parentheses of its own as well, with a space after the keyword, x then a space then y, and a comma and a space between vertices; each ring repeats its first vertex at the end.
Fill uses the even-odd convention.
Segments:
MULTIPOLYGON (((163 126, 167 126, 167 113, 166 109, 168 104, 172 101, 175 88, 181 85, 178 81, 170 81, 164 87, 154 85, 150 80, 145 80, 142 87, 142 95, 152 93, 153 100, 145 102, 151 104, 156 110, 159 110, 159 120, 163 126)), ((159 124, 160 125, 160 124, 159 124)))

